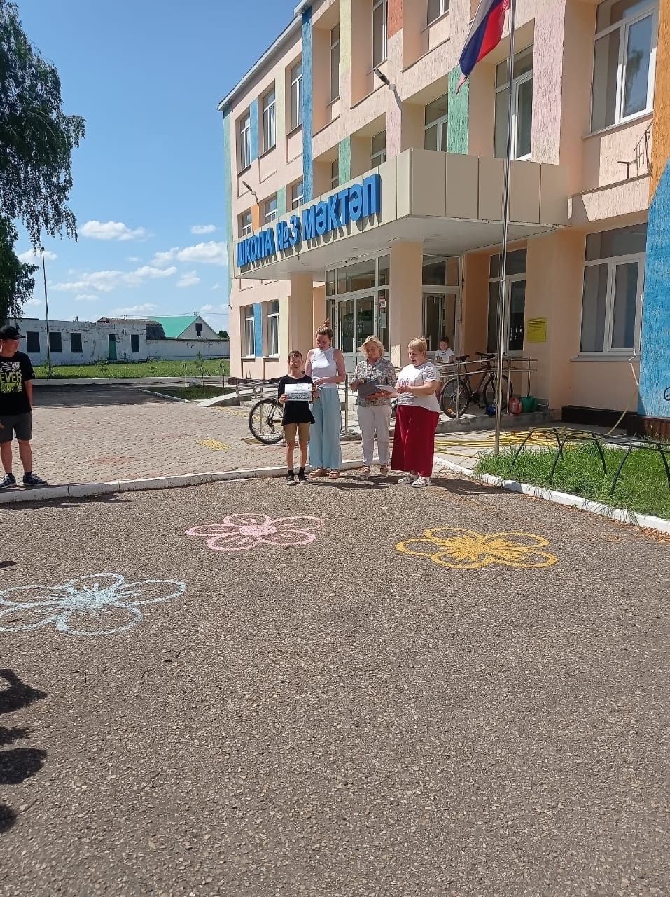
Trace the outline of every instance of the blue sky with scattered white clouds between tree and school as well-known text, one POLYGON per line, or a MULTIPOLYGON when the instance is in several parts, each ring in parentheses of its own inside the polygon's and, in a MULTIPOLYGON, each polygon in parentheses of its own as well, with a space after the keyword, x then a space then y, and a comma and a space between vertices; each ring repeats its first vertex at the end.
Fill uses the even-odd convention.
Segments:
MULTIPOLYGON (((18 0, 65 111, 86 119, 70 202, 79 240, 44 244, 51 318, 202 311, 228 327, 217 104, 295 4, 18 0)), ((17 252, 31 260, 23 233, 17 252)), ((44 317, 41 274, 24 315, 44 317)))

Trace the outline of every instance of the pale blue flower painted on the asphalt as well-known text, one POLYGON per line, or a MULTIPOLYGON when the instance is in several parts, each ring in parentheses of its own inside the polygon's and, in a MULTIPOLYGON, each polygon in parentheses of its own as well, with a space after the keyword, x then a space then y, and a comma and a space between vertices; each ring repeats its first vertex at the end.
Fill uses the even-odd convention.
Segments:
POLYGON ((142 620, 140 607, 168 601, 185 589, 184 582, 173 579, 125 582, 118 573, 91 573, 63 586, 5 588, 0 591, 0 632, 49 624, 70 635, 125 632, 142 620))

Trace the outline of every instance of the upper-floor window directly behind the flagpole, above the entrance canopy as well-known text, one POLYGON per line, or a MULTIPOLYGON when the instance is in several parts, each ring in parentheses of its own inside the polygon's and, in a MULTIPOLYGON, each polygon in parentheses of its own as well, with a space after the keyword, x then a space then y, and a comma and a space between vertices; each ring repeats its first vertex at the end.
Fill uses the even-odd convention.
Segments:
MULTIPOLYGON (((507 156, 507 133, 510 103, 510 64, 508 60, 495 67, 495 155, 507 156)), ((511 158, 528 159, 533 129, 533 48, 521 50, 514 57, 511 83, 511 158)))

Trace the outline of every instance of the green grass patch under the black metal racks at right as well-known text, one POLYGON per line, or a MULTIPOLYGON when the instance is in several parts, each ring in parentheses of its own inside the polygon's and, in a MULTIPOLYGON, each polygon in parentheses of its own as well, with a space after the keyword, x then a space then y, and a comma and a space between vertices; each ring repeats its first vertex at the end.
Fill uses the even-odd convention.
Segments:
POLYGON ((670 518, 670 489, 663 461, 657 452, 633 450, 616 483, 614 495, 610 495, 610 489, 623 457, 619 448, 605 449, 607 473, 603 471, 594 446, 564 448, 551 484, 549 475, 556 457, 555 449, 524 450, 513 467, 511 457, 512 450, 503 451, 497 458, 487 453, 480 458, 476 470, 520 483, 545 486, 557 492, 571 492, 641 514, 670 518))

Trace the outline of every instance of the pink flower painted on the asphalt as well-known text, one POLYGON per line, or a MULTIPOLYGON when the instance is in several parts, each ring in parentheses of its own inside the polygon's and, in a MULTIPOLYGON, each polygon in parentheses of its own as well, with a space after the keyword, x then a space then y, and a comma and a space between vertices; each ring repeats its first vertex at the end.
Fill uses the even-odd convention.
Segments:
POLYGON ((265 514, 232 514, 221 523, 191 527, 186 536, 204 536, 215 552, 243 552, 256 545, 306 545, 314 542, 315 529, 325 526, 317 517, 279 517, 265 514))

